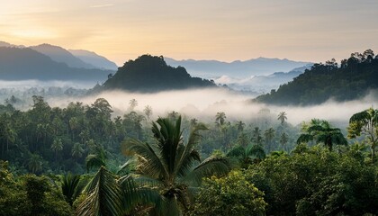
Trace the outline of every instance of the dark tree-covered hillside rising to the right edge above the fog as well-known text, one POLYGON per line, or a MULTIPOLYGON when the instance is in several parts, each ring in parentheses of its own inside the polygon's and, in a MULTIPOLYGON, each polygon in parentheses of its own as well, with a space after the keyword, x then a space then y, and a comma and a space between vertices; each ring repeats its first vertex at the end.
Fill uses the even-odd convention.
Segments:
POLYGON ((378 89, 378 56, 374 51, 352 53, 343 59, 340 67, 335 59, 325 64, 314 64, 292 82, 280 85, 270 94, 258 96, 262 103, 310 105, 329 99, 348 101, 364 97, 378 89))

